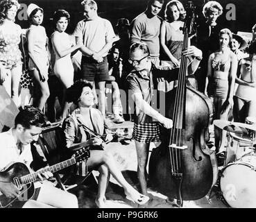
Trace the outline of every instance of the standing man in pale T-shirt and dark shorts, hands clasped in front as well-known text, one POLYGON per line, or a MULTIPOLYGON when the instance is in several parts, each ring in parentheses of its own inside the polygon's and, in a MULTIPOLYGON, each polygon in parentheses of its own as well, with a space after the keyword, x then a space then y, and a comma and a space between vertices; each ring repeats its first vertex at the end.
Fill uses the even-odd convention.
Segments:
POLYGON ((74 31, 76 43, 82 42, 80 51, 83 53, 81 61, 81 77, 94 85, 94 101, 96 101, 96 87, 99 88, 99 110, 105 121, 105 80, 108 74, 108 51, 114 41, 112 24, 98 16, 97 4, 93 0, 81 2, 85 19, 78 22, 74 31))

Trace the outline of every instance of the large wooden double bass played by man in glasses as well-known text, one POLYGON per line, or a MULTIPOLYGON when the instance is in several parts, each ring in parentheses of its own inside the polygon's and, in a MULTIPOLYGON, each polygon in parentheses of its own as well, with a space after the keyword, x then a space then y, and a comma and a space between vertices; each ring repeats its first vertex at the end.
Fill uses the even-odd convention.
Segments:
MULTIPOLYGON (((187 11, 183 28, 183 49, 187 49, 194 12, 187 11)), ((198 200, 208 194, 216 182, 216 155, 206 144, 213 104, 205 94, 187 81, 187 58, 182 56, 178 85, 166 94, 166 117, 173 120, 162 144, 154 148, 149 160, 151 187, 179 206, 183 200, 198 200)))

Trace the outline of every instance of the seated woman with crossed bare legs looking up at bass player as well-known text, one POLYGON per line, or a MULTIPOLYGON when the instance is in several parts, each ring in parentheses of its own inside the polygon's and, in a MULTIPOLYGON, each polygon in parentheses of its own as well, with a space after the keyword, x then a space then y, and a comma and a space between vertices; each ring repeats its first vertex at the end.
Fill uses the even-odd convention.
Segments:
MULTIPOLYGON (((92 108, 92 105, 94 105, 92 85, 84 81, 77 81, 67 89, 66 93, 67 101, 78 105, 78 108, 63 123, 67 148, 71 148, 72 145, 80 142, 88 142, 88 146, 90 146, 90 157, 87 162, 84 161, 77 164, 77 174, 85 176, 87 169, 88 171, 92 171, 93 169, 99 170, 99 187, 95 201, 96 205, 99 208, 105 207, 105 190, 110 177, 109 171, 123 187, 128 200, 132 200, 139 205, 146 203, 149 199, 148 196, 139 194, 123 178, 111 153, 108 153, 108 151, 102 148, 103 139, 92 137, 90 133, 87 133, 87 130, 84 130, 84 128, 89 128, 99 135, 103 135, 104 132, 104 121, 101 112, 92 108)), ((111 140, 109 136, 106 139, 111 140)))

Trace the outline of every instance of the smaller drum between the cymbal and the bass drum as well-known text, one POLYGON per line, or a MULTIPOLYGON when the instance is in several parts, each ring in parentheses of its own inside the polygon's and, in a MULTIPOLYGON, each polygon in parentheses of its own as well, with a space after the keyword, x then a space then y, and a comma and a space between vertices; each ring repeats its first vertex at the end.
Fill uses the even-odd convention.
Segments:
POLYGON ((250 137, 246 135, 230 133, 226 151, 224 166, 239 160, 246 153, 251 153, 253 151, 253 144, 250 137))

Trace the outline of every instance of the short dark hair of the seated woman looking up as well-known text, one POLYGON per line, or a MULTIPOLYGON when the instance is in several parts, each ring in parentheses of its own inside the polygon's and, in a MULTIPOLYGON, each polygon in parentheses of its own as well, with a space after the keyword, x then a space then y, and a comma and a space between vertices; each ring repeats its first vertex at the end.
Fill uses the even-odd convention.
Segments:
POLYGON ((92 89, 92 84, 86 80, 77 80, 71 87, 66 91, 66 101, 68 103, 74 103, 78 105, 79 98, 83 92, 84 87, 92 89))

